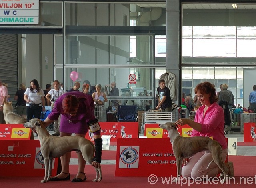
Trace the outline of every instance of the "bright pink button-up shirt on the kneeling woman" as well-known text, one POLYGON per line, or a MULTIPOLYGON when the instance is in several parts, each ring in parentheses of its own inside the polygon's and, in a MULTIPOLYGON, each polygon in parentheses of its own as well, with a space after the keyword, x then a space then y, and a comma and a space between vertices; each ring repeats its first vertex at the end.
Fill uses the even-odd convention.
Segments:
POLYGON ((226 138, 224 135, 224 110, 221 106, 214 102, 204 113, 204 106, 200 106, 196 110, 195 122, 202 124, 202 131, 198 132, 192 130, 192 136, 206 136, 213 137, 214 140, 218 141, 222 145, 222 149, 228 148, 226 138))

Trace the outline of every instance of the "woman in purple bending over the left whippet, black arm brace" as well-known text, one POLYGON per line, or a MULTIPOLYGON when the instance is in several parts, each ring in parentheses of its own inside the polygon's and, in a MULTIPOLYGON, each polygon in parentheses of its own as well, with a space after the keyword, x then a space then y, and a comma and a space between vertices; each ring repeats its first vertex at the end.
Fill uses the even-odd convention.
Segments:
MULTIPOLYGON (((92 162, 92 166, 98 167, 101 162, 102 153, 102 138, 100 135, 100 127, 98 121, 94 116, 94 101, 92 96, 84 94, 82 92, 68 92, 60 96, 55 104, 52 112, 48 115, 46 120, 44 120, 45 126, 48 126, 54 120, 60 120, 60 137, 71 136, 75 133, 75 136, 85 137, 88 132, 90 124, 93 124, 93 128, 90 127, 90 131, 94 134, 95 143, 95 157, 92 162), (95 125, 97 125, 95 128, 95 125)), ((72 182, 82 182, 86 180, 84 173, 84 167, 86 161, 83 159, 82 154, 78 154, 78 173, 72 182)), ((71 158, 71 153, 68 152, 60 157, 62 171, 57 176, 50 178, 50 181, 61 181, 69 180, 69 162, 71 158)))

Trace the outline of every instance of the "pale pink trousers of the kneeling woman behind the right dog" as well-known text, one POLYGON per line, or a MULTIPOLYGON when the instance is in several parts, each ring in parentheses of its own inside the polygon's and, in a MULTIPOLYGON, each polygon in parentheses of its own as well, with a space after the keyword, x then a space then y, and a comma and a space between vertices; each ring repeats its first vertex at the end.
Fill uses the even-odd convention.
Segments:
MULTIPOLYGON (((228 149, 222 150, 222 160, 225 162, 228 149)), ((219 171, 219 167, 215 162, 209 166, 208 164, 212 161, 212 154, 210 152, 198 152, 189 158, 189 162, 182 167, 181 174, 186 178, 202 178, 203 176, 208 178, 216 177, 219 171)))

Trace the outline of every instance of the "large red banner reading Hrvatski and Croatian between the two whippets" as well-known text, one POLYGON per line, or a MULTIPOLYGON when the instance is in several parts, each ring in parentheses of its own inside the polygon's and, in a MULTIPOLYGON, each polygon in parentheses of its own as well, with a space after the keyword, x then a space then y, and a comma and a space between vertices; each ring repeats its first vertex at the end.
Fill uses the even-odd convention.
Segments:
POLYGON ((176 176, 169 138, 118 139, 115 176, 176 176))

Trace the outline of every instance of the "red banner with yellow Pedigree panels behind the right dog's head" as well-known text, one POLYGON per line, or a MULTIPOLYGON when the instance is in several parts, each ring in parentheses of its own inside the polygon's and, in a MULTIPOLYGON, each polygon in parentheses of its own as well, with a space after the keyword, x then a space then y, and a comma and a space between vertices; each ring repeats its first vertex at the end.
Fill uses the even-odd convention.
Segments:
MULTIPOLYGON (((188 125, 179 126, 178 132, 180 136, 190 137, 192 128, 188 125)), ((169 138, 169 133, 159 127, 159 124, 145 124, 144 136, 147 138, 169 138)))

